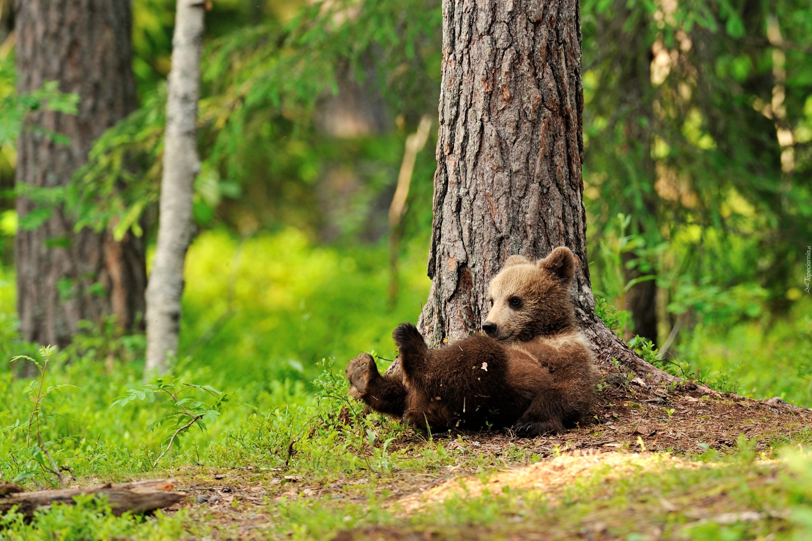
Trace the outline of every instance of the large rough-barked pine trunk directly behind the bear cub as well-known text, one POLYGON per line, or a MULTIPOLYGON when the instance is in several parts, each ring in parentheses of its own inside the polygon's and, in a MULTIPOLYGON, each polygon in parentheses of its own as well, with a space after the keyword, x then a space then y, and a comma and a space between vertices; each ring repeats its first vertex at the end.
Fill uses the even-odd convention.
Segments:
POLYGON ((566 246, 581 259, 573 295, 599 361, 672 380, 594 315, 579 17, 577 0, 444 0, 432 285, 418 327, 432 346, 468 336, 509 255, 538 259, 566 246))

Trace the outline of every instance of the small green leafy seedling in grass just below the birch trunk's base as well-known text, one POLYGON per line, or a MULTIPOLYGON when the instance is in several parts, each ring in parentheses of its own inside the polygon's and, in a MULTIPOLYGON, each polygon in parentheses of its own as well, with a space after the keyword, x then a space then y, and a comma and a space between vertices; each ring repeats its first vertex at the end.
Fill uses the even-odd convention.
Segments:
POLYGON ((167 427, 166 437, 161 446, 166 444, 166 448, 161 451, 158 458, 153 462, 153 468, 158 466, 158 462, 169 452, 172 444, 179 436, 187 432, 189 428, 197 425, 201 431, 205 431, 206 423, 214 421, 222 411, 226 402, 229 401, 231 393, 222 393, 210 385, 196 385, 189 383, 179 383, 175 376, 162 376, 153 379, 153 383, 143 385, 137 389, 128 389, 123 397, 116 399, 110 407, 127 406, 127 402, 135 400, 163 400, 163 407, 171 413, 154 421, 147 427, 148 431, 153 431, 158 427, 167 427), (190 391, 199 391, 211 397, 209 401, 197 400, 196 397, 183 396, 190 391))

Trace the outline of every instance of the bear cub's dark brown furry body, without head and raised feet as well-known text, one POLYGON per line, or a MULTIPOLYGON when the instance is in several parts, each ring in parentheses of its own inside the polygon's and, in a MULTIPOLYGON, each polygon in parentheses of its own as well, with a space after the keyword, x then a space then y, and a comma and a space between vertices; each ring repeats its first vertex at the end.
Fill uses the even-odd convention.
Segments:
POLYGON ((512 427, 534 409, 550 422, 544 432, 560 431, 592 404, 591 355, 580 333, 510 346, 471 337, 430 352, 419 377, 404 370, 404 419, 417 426, 512 427))

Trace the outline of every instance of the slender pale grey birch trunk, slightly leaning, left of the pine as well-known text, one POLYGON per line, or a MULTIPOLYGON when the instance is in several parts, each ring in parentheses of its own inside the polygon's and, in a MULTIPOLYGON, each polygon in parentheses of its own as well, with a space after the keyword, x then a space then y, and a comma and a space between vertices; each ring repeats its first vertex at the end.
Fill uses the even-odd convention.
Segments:
POLYGON ((194 235, 192 195, 200 170, 197 101, 205 2, 178 0, 166 101, 158 246, 147 286, 147 373, 164 373, 178 350, 184 260, 194 235))

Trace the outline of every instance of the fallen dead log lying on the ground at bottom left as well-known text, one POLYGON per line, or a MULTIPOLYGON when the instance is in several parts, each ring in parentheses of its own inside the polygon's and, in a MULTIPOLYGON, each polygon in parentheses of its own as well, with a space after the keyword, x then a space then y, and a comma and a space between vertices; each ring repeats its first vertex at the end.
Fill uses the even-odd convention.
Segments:
POLYGON ((110 509, 116 516, 127 511, 149 513, 177 504, 186 496, 174 492, 175 482, 171 479, 152 479, 133 483, 107 483, 97 487, 63 488, 62 490, 41 490, 37 492, 11 492, 0 497, 0 515, 17 508, 17 513, 33 517, 34 511, 50 509, 55 502, 74 504, 73 497, 93 494, 106 496, 110 509))

